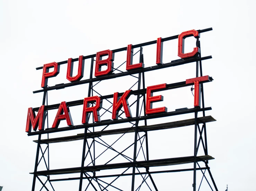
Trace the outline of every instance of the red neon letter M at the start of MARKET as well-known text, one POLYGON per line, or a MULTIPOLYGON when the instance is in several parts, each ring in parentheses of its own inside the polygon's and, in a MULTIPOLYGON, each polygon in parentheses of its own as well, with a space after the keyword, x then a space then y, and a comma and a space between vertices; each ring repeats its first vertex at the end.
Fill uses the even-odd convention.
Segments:
POLYGON ((44 130, 44 123, 46 117, 46 111, 44 111, 44 105, 42 105, 37 115, 33 108, 28 108, 28 115, 27 115, 27 124, 26 124, 26 132, 31 132, 31 126, 34 131, 36 131, 37 127, 39 126, 38 130, 44 130))

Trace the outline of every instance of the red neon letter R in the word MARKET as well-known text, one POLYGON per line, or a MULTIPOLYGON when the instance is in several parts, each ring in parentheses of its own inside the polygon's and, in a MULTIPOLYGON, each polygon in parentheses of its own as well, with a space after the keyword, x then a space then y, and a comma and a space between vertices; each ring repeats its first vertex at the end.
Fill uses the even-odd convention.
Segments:
POLYGON ((102 100, 98 96, 92 96, 89 98, 83 99, 83 117, 82 117, 82 123, 88 123, 89 122, 89 112, 92 112, 94 121, 100 122, 100 116, 99 116, 99 110, 102 107, 102 100), (96 102, 95 106, 90 107, 90 103, 96 102))

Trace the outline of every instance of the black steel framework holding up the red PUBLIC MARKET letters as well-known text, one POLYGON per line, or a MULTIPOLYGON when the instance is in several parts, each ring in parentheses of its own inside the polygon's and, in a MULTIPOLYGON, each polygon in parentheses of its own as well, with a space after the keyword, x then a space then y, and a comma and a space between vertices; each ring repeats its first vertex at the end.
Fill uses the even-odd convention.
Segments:
MULTIPOLYGON (((204 29, 201 30, 201 32, 206 32, 210 31, 210 29, 204 29)), ((167 40, 172 40, 177 38, 178 36, 174 37, 168 37, 165 38, 164 41, 167 40)), ((147 46, 149 44, 156 43, 155 41, 143 43, 143 44, 138 44, 133 46, 133 48, 140 48, 138 52, 135 54, 139 53, 140 54, 140 62, 143 62, 143 53, 142 53, 142 47, 147 46)), ((197 47, 200 47, 200 41, 197 39, 196 41, 197 47)), ((116 49, 113 50, 113 52, 118 52, 118 51, 125 51, 125 48, 121 49, 116 49)), ((134 54, 134 55, 135 55, 134 54)), ((46 118, 46 123, 47 123, 47 129, 44 131, 36 131, 36 132, 30 132, 28 135, 36 135, 38 134, 38 140, 35 140, 34 142, 37 143, 37 152, 36 152, 36 160, 35 160, 35 168, 34 172, 31 173, 34 175, 33 177, 33 184, 32 184, 32 191, 35 190, 35 184, 36 184, 36 179, 42 184, 42 189, 45 189, 47 191, 49 190, 54 190, 54 187, 52 185, 52 182, 56 181, 67 181, 67 180, 79 180, 79 191, 82 190, 106 190, 112 188, 116 190, 121 190, 120 188, 117 188, 114 185, 114 182, 118 180, 118 178, 123 177, 123 176, 131 176, 131 190, 132 191, 139 191, 142 188, 142 185, 147 185, 147 188, 149 190, 156 190, 158 191, 157 185, 155 181, 152 178, 151 174, 156 174, 156 173, 169 173, 169 172, 183 172, 183 171, 193 171, 194 179, 193 179, 193 190, 196 191, 196 171, 202 172, 202 179, 206 180, 206 182, 209 184, 209 187, 213 191, 217 189, 217 186, 214 182, 214 179, 212 177, 210 167, 208 166, 208 161, 212 158, 211 156, 208 155, 208 146, 207 146, 207 137, 206 137, 206 123, 215 121, 211 116, 205 116, 205 111, 206 110, 211 110, 211 108, 205 108, 204 106, 204 91, 203 91, 203 83, 201 83, 201 92, 202 92, 202 108, 192 108, 192 109, 181 109, 177 110, 174 112, 168 112, 168 113, 161 113, 161 114, 155 114, 155 115, 150 115, 147 116, 145 114, 145 76, 144 72, 146 71, 151 71, 155 69, 160 69, 160 68, 165 68, 165 67, 172 67, 172 66, 178 66, 180 64, 185 64, 185 63, 190 63, 190 62, 196 62, 196 77, 203 76, 202 74, 202 60, 209 59, 210 57, 204 57, 201 58, 201 53, 198 55, 196 58, 190 58, 186 60, 176 60, 167 64, 162 64, 160 66, 156 67, 150 67, 153 69, 149 68, 144 68, 144 69, 137 69, 134 71, 129 71, 129 72, 123 72, 119 70, 124 63, 122 63, 120 66, 117 68, 113 68, 114 71, 119 71, 120 73, 117 74, 111 74, 110 76, 106 77, 99 77, 99 78, 92 78, 92 72, 93 72, 93 66, 94 66, 94 57, 95 55, 87 56, 88 58, 91 58, 91 68, 90 68, 90 79, 88 80, 82 80, 82 83, 89 83, 89 90, 88 90, 88 97, 94 96, 95 94, 97 96, 100 96, 101 99, 105 99, 107 102, 113 105, 111 101, 109 101, 109 98, 112 98, 113 95, 108 95, 108 96, 102 96, 98 90, 95 89, 98 83, 101 82, 101 80, 105 79, 111 79, 114 77, 121 77, 121 76, 127 76, 130 75, 133 78, 136 78, 137 81, 134 83, 130 89, 133 87, 137 86, 137 90, 133 91, 133 94, 136 95, 136 100, 130 105, 130 107, 134 107, 136 105, 136 117, 126 119, 123 118, 124 111, 121 110, 121 113, 118 115, 119 118, 118 120, 112 121, 112 120, 105 120, 101 121, 99 123, 90 123, 90 124, 85 124, 85 125, 75 125, 72 128, 65 127, 65 128, 59 128, 59 129, 51 129, 48 126, 48 110, 51 109, 58 109, 59 104, 54 104, 54 105, 48 105, 48 95, 47 91, 53 90, 53 89, 59 89, 60 87, 65 88, 69 86, 76 85, 75 83, 69 83, 69 84, 61 84, 61 85, 56 85, 54 87, 47 87, 43 90, 38 90, 35 91, 34 93, 37 92, 44 92, 43 95, 43 105, 45 105, 45 110, 47 111, 47 118, 46 118), (135 76, 135 74, 138 74, 138 76, 135 76), (114 77, 113 77, 114 76, 114 77), (93 84, 96 82, 95 84, 93 84), (46 102, 46 104, 45 104, 46 102), (143 113, 142 113, 143 111, 143 113), (198 112, 203 112, 203 117, 198 117, 198 112), (158 117, 167 117, 171 115, 179 115, 179 114, 185 114, 185 113, 194 113, 195 118, 194 119, 188 119, 188 120, 183 120, 183 121, 176 121, 176 122, 169 122, 169 123, 163 123, 163 124, 157 124, 157 125, 147 125, 147 120, 152 119, 152 118, 158 118, 158 117), (144 121, 143 126, 139 126, 139 121, 144 121), (118 124, 118 123, 130 123, 131 127, 129 128, 118 128, 118 129, 112 129, 109 130, 107 129, 110 125, 112 124, 118 124), (95 127, 97 126, 103 126, 103 129, 100 131, 95 131, 95 127), (171 159, 158 159, 158 160, 150 160, 149 159, 149 148, 148 148, 148 131, 153 131, 153 130, 161 130, 161 129, 169 129, 169 128, 177 128, 177 127, 184 127, 187 125, 194 125, 194 155, 190 157, 179 157, 179 158, 171 158, 171 159), (201 125, 201 127, 200 127, 201 125), (72 130, 72 129, 85 129, 84 133, 82 134, 77 134, 69 137, 61 137, 61 138, 49 138, 49 133, 51 132, 59 132, 59 131, 64 131, 64 130, 72 130), (47 139, 41 139, 42 134, 47 133, 47 139), (118 151, 114 148, 114 144, 120 141, 125 134, 127 133, 134 133, 134 142, 130 144, 128 147, 123 149, 122 151, 118 151), (198 134, 199 133, 199 134, 198 134), (106 141, 102 139, 103 136, 105 135, 111 135, 111 134, 119 134, 119 138, 117 138, 112 144, 108 144, 106 141), (198 139, 199 137, 199 139, 198 139), (65 142, 65 141, 74 141, 74 140, 83 140, 83 150, 82 150, 82 159, 81 159, 81 167, 76 167, 76 168, 68 168, 68 169, 55 169, 55 170, 50 170, 50 159, 49 159, 49 144, 50 143, 56 143, 56 142, 65 142), (105 147, 105 150, 101 152, 100 154, 96 155, 95 152, 95 145, 99 144, 105 147), (46 145, 45 148, 43 148, 43 145, 46 145), (204 156, 197 156, 198 149, 202 145, 203 150, 204 150, 204 156), (125 154, 125 151, 128 149, 133 148, 133 156, 129 156, 125 154), (97 164, 96 161, 99 157, 101 157, 105 152, 107 151, 113 151, 116 154, 114 157, 112 157, 110 160, 107 160, 104 164, 97 164), (39 158, 39 153, 42 154, 41 158, 39 158), (47 153, 47 156, 45 154, 47 153), (138 156, 139 154, 142 156, 143 160, 139 161, 138 156), (125 159, 126 162, 123 163, 111 163, 113 160, 122 157, 125 159), (87 159, 87 161, 86 161, 87 159), (89 162, 88 162, 89 160, 89 162), (44 163, 46 170, 44 171, 37 171, 37 167, 40 163, 44 163), (200 164, 201 162, 201 164, 200 164), (160 166, 168 166, 168 165, 177 165, 177 164, 186 164, 186 163, 193 163, 194 168, 193 169, 177 169, 177 170, 162 170, 162 171, 150 171, 150 167, 160 167, 160 166), (203 165, 205 167, 201 167, 203 165), (200 166, 201 165, 201 166, 200 166), (108 175, 96 175, 98 171, 103 171, 103 170, 108 170, 108 169, 123 169, 122 173, 118 174, 108 174, 108 175), (131 170, 131 173, 129 173, 129 170, 131 170), (210 179, 208 180, 205 176, 206 171, 210 175, 210 179), (80 173, 79 177, 75 178, 62 178, 62 179, 51 179, 50 175, 58 175, 58 174, 70 174, 70 173, 80 173), (135 177, 141 177, 142 182, 139 184, 138 187, 135 187, 135 177), (43 182, 39 177, 46 177, 46 181, 43 182), (114 180, 111 181, 110 183, 107 181, 104 181, 103 178, 109 178, 109 177, 114 177, 114 180), (210 182, 213 184, 213 187, 211 186, 210 182), (47 185, 46 185, 47 184, 47 185), (83 185, 84 188, 82 188, 83 185)), ((87 59, 85 57, 84 59, 87 59)), ((76 59, 73 59, 73 61, 76 61, 76 59)), ((59 64, 64 64, 67 62, 61 62, 59 64)), ((41 68, 37 68, 41 69, 41 68)), ((212 78, 211 78, 212 81, 212 78)), ((81 82, 81 81, 80 81, 81 82)), ((167 89, 174 89, 174 88, 180 88, 180 87, 185 87, 187 86, 185 82, 178 82, 175 84, 168 84, 167 89)), ((120 93, 122 95, 122 93, 120 93)), ((81 105, 82 100, 77 100, 73 102, 67 102, 67 105, 69 107, 72 107, 74 105, 81 105)), ((109 111, 112 106, 109 108, 102 108, 104 111, 101 116, 103 116, 105 113, 112 113, 109 111)), ((34 111, 37 111, 39 108, 34 108, 34 111)), ((100 116, 100 117, 101 117, 100 116)), ((94 122, 93 115, 92 117, 89 115, 89 118, 92 118, 92 121, 94 122)), ((198 191, 200 190, 201 183, 198 187, 198 191)), ((145 187, 144 187, 145 188, 145 187)), ((122 191, 122 190, 121 190, 122 191)))

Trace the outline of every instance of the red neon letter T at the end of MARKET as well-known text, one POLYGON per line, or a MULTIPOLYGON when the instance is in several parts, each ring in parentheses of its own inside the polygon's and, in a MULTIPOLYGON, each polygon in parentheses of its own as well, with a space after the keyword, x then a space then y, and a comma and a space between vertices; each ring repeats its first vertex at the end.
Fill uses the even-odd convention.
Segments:
POLYGON ((195 85, 194 91, 194 107, 201 107, 201 86, 199 86, 199 82, 202 81, 210 81, 209 76, 202 76, 197 78, 191 78, 186 80, 186 84, 193 84, 195 85))

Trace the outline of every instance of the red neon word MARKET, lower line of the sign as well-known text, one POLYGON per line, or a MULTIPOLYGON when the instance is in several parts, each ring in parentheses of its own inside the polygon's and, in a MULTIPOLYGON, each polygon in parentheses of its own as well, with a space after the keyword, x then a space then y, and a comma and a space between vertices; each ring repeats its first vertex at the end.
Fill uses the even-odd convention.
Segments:
MULTIPOLYGON (((209 76, 202 76, 192 79, 187 79, 186 84, 194 84, 195 85, 195 98, 194 98, 194 107, 200 107, 201 102, 201 86, 200 82, 203 81, 210 81, 209 76)), ((152 104, 154 102, 163 101, 164 97, 162 95, 153 96, 153 92, 155 91, 162 91, 166 90, 166 83, 158 84, 155 86, 147 87, 146 92, 146 105, 145 105, 145 113, 147 115, 156 114, 167 112, 166 107, 160 108, 153 108, 152 104)), ((127 90, 123 93, 122 96, 118 96, 118 92, 113 94, 113 110, 112 110, 112 119, 118 119, 118 112, 124 109, 125 117, 130 118, 132 117, 132 113, 129 107, 128 99, 131 96, 132 90, 127 90)), ((83 100, 83 111, 82 111, 82 124, 86 124, 89 122, 89 112, 92 112, 94 121, 100 122, 100 114, 99 110, 102 108, 102 100, 98 96, 92 96, 88 98, 84 98, 83 100), (92 105, 95 104, 95 105, 92 105)), ((33 108, 28 108, 28 115, 27 115, 27 124, 26 124, 26 132, 31 132, 31 127, 33 127, 34 131, 36 131, 37 127, 39 130, 43 130, 43 120, 45 120, 45 111, 44 105, 42 105, 39 110, 38 114, 35 116, 35 112, 33 112, 33 108)), ((54 119, 52 128, 58 128, 60 121, 66 120, 69 126, 73 125, 71 114, 69 108, 66 105, 66 102, 63 101, 60 103, 59 109, 56 113, 56 117, 54 119)))

